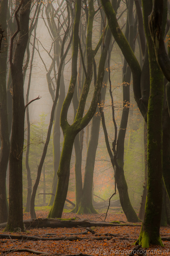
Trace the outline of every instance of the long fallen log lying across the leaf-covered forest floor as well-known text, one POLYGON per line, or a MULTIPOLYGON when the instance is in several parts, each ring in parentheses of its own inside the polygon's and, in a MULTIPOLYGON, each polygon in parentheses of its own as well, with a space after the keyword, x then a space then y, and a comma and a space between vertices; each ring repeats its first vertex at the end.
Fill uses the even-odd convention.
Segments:
MULTIPOLYGON (((115 224, 106 221, 91 221, 91 220, 68 220, 60 218, 37 218, 32 220, 24 220, 24 226, 28 228, 57 228, 57 227, 116 227, 116 226, 141 226, 141 224, 115 224)), ((5 228, 6 223, 1 223, 0 228, 5 228)))

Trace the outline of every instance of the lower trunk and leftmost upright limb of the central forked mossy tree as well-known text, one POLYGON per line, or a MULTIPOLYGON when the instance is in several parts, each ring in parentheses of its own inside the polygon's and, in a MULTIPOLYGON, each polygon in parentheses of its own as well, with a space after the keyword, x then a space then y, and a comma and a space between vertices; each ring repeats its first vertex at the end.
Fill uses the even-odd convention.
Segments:
POLYGON ((48 217, 59 217, 62 216, 62 211, 64 208, 65 199, 67 197, 68 191, 68 183, 69 183, 69 173, 70 173, 70 161, 72 148, 74 144, 76 132, 73 132, 74 127, 69 126, 67 123, 67 111, 69 108, 69 104, 71 103, 74 89, 76 85, 76 77, 77 77, 77 58, 78 58, 78 37, 79 37, 79 21, 81 15, 81 2, 76 0, 75 3, 75 19, 74 19, 74 28, 73 28, 73 52, 72 52, 72 71, 71 71, 71 81, 69 84, 69 89, 67 96, 64 100, 63 107, 61 110, 61 127, 64 134, 64 142, 61 152, 61 158, 58 168, 58 183, 57 183, 57 191, 55 194, 54 203, 48 214, 48 217), (64 113, 63 113, 64 109, 64 113), (66 113, 65 113, 66 112, 66 113))

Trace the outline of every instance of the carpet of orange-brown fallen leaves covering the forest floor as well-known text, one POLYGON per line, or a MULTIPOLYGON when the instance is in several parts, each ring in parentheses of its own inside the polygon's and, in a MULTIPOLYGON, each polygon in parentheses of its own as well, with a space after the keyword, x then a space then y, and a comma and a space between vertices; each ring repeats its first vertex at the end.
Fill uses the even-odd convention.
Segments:
MULTIPOLYGON (((37 218, 47 218, 47 211, 36 211, 37 218)), ((105 216, 100 214, 84 214, 78 216, 74 213, 63 213, 62 218, 81 218, 95 221, 103 221, 105 216)), ((24 213, 24 220, 30 219, 29 213, 24 213)), ((127 222, 124 213, 116 213, 115 211, 110 211, 108 213, 106 221, 122 221, 122 223, 127 222)), ((139 224, 139 223, 136 223, 139 224)), ((45 255, 43 252, 52 255, 54 253, 59 253, 62 255, 75 255, 79 253, 101 256, 101 255, 129 255, 131 250, 135 247, 134 242, 139 236, 140 226, 116 226, 116 227, 91 227, 94 234, 88 232, 86 234, 75 234, 84 232, 85 229, 82 228, 41 228, 41 229, 27 229, 26 233, 21 232, 22 235, 27 236, 37 236, 37 237, 71 237, 77 236, 86 238, 85 240, 60 240, 60 241, 27 241, 27 240, 12 240, 12 239, 0 239, 0 252, 1 255, 37 255, 35 253, 28 252, 10 252, 9 249, 32 249, 42 252, 41 256, 45 255), (103 236, 106 237, 108 233, 114 234, 110 236, 110 240, 95 240, 94 238, 103 236), (6 250, 4 253, 3 251, 6 250)), ((3 229, 0 229, 0 233, 3 233, 3 229)), ((6 232, 7 233, 7 232, 6 232)), ((10 233, 8 233, 10 234, 10 233)), ((18 233, 13 233, 18 234, 18 233)), ((161 227, 161 236, 170 236, 170 227, 161 227)), ((164 247, 151 246, 144 255, 169 255, 170 256, 170 242, 164 241, 164 247)))

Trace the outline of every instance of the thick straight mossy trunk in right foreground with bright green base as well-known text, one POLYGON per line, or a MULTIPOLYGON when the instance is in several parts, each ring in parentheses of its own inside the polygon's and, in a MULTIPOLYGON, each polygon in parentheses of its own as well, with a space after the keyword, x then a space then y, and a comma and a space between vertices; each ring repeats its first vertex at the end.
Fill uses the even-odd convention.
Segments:
MULTIPOLYGON (((164 98, 164 77, 157 64, 154 43, 150 36, 148 16, 152 1, 142 1, 145 34, 149 52, 150 97, 147 112, 147 197, 145 214, 137 243, 142 247, 159 244, 162 211, 162 109, 164 98)), ((156 33, 156 31, 154 31, 156 33)))

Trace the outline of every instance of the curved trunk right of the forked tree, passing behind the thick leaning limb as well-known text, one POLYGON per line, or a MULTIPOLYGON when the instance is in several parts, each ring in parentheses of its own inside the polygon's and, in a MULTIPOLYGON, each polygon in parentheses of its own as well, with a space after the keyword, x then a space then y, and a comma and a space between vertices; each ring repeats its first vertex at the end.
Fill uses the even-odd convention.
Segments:
MULTIPOLYGON (((134 17, 133 17, 133 1, 129 2, 128 7, 128 16, 126 23, 125 36, 128 38, 129 44, 134 51, 134 17)), ((131 80, 131 70, 127 65, 126 60, 124 60, 123 65, 123 111, 120 122, 118 140, 117 140, 117 162, 118 166, 115 168, 115 181, 119 191, 120 204, 126 215, 126 218, 130 222, 138 222, 139 218, 133 209, 129 194, 128 194, 128 185, 126 183, 124 175, 124 143, 126 128, 128 123, 129 116, 129 107, 130 107, 130 80, 131 80)))

